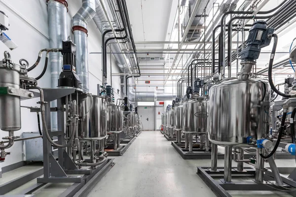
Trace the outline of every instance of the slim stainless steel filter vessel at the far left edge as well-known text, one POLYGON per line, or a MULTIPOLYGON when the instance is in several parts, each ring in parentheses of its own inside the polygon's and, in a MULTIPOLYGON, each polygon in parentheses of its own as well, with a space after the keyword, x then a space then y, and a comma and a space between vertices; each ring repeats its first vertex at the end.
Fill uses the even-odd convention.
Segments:
MULTIPOLYGON (((10 60, 10 55, 4 53, 4 60, 10 60)), ((20 66, 0 61, 0 88, 11 87, 20 89, 20 66)), ((7 89, 3 89, 6 91, 7 89)), ((3 91, 2 90, 2 91, 3 91)), ((13 90, 12 90, 13 91, 13 90)), ((2 131, 18 131, 21 129, 21 100, 20 97, 2 93, 0 95, 0 129, 2 131)))

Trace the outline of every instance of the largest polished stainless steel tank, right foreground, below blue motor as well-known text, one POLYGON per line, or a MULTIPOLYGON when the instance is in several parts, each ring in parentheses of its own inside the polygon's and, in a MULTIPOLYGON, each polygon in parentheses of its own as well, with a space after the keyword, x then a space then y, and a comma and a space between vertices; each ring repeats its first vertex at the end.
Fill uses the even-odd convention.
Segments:
POLYGON ((249 146, 247 138, 268 133, 270 91, 259 79, 226 80, 211 88, 209 139, 219 145, 249 146))

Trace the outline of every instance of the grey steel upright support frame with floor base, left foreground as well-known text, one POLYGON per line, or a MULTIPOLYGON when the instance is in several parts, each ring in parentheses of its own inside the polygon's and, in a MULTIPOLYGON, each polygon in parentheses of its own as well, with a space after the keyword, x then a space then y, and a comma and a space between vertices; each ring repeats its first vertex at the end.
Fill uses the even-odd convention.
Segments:
MULTIPOLYGON (((42 89, 44 94, 45 104, 45 120, 48 134, 51 137, 57 137, 58 144, 65 143, 65 128, 64 128, 64 104, 62 98, 75 93, 73 88, 69 89, 42 89), (57 100, 57 119, 58 131, 51 131, 50 120, 50 101, 57 100)), ((34 92, 35 94, 35 92, 34 92)), ((36 95, 38 95, 36 93, 36 95)), ((90 189, 99 179, 101 179, 114 165, 113 159, 107 159, 103 164, 93 168, 78 169, 71 157, 66 152, 65 148, 58 148, 58 161, 52 155, 52 145, 46 137, 43 137, 43 169, 21 176, 9 183, 2 185, 5 189, 1 190, 2 194, 37 178, 37 184, 22 191, 18 196, 26 196, 32 194, 38 188, 48 183, 73 183, 60 197, 86 196, 90 189), (40 174, 41 173, 41 174, 40 174), (76 194, 77 193, 77 194, 76 194)), ((11 195, 10 195, 11 196, 11 195)), ((31 195, 34 196, 34 195, 31 195)))

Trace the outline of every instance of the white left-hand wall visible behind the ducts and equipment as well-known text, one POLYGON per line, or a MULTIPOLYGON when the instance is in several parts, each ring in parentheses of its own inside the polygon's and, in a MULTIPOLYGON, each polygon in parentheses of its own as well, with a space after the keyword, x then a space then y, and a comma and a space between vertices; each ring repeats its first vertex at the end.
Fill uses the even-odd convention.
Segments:
MULTIPOLYGON (((69 0, 69 12, 68 12, 68 30, 69 35, 73 39, 72 33, 72 16, 77 12, 81 6, 81 0, 69 0)), ((30 66, 33 65, 37 59, 37 55, 40 49, 49 47, 49 41, 46 36, 38 33, 28 25, 24 19, 18 17, 14 12, 5 6, 8 4, 10 8, 19 12, 24 18, 26 18, 30 23, 36 26, 42 33, 48 35, 48 22, 47 22, 47 6, 45 0, 0 0, 0 10, 5 12, 9 17, 9 31, 7 33, 10 38, 18 45, 13 51, 10 51, 2 42, 0 43, 0 59, 3 58, 3 52, 9 51, 12 60, 18 63, 19 59, 24 58, 28 60, 30 66)), ((97 30, 96 25, 93 21, 87 26, 88 30, 88 52, 101 52, 102 38, 101 33, 97 30)), ((89 89, 94 95, 97 94, 97 84, 102 85, 102 58, 101 54, 89 54, 89 89)), ((108 55, 108 83, 110 84, 110 56, 108 55)), ((36 69, 30 72, 31 77, 37 77, 43 69, 43 62, 37 66, 36 69)), ((116 66, 115 59, 112 57, 111 60, 112 72, 120 72, 119 68, 116 66)), ((112 77, 112 86, 117 93, 117 89, 120 89, 119 77, 112 77)), ((45 73, 45 75, 38 80, 38 86, 42 88, 50 87, 50 66, 45 73)), ((119 93, 120 94, 120 93, 119 93)), ((115 94, 115 99, 119 98, 115 94)), ((36 102, 38 99, 30 99, 22 101, 22 105, 38 106, 36 102)), ((16 131, 15 135, 21 136, 24 131, 38 131, 37 128, 37 118, 35 113, 30 113, 29 109, 22 108, 22 129, 16 131)), ((5 115, 1 113, 1 115, 5 115)), ((7 132, 0 131, 0 137, 7 136, 7 132)), ((11 155, 6 157, 2 167, 10 164, 15 164, 17 162, 23 161, 23 143, 16 142, 7 151, 11 152, 11 155)))

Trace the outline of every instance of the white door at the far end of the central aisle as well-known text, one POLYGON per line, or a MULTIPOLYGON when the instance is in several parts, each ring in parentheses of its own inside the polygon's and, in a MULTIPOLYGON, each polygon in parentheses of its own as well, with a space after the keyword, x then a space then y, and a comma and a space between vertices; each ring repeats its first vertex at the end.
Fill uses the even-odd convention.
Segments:
POLYGON ((154 131, 155 110, 154 106, 138 107, 138 114, 141 116, 143 130, 154 131))

